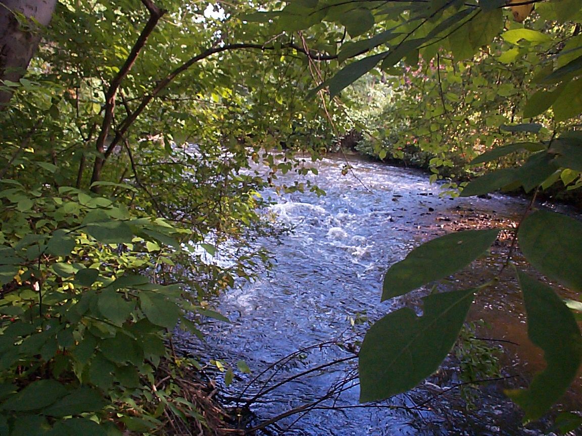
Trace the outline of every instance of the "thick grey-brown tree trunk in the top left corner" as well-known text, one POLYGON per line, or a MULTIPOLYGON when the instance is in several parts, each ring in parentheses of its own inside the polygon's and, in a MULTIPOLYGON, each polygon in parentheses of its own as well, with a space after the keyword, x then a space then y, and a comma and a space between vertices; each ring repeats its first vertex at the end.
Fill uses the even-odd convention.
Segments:
MULTIPOLYGON (((0 81, 17 82, 24 75, 55 5, 56 0, 0 0, 0 81)), ((0 110, 10 98, 12 92, 0 89, 0 110)))

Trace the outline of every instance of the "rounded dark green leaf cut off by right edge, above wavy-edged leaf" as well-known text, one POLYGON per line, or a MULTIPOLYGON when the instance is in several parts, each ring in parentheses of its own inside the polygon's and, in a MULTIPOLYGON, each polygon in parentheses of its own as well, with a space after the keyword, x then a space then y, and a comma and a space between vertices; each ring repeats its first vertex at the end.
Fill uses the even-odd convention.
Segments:
POLYGON ((545 276, 582 291, 582 223, 561 213, 538 210, 519 226, 519 246, 545 276))

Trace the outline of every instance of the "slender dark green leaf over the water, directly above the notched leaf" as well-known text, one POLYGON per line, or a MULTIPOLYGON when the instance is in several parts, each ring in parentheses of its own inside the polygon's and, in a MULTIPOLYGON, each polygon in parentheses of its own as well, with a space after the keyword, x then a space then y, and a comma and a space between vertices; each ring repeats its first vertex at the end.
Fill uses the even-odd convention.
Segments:
POLYGON ((499 230, 465 230, 418 246, 386 273, 382 301, 463 269, 485 254, 498 233, 499 230))

